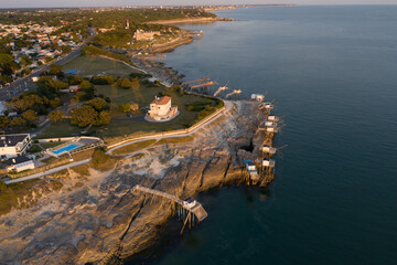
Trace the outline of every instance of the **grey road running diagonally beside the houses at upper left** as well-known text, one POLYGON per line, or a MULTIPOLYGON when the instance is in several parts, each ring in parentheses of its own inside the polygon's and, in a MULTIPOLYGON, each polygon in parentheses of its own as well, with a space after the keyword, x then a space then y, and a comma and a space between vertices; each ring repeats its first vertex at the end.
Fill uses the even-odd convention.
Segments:
POLYGON ((77 56, 82 52, 82 49, 87 44, 87 42, 90 41, 96 35, 96 31, 94 29, 90 30, 90 32, 92 35, 87 40, 85 40, 77 49, 73 50, 69 54, 60 57, 55 62, 52 62, 50 64, 43 65, 40 68, 34 70, 30 75, 15 80, 9 86, 3 86, 2 88, 0 88, 0 102, 4 102, 14 96, 18 96, 22 94, 22 92, 25 89, 36 88, 35 84, 32 81, 32 77, 40 76, 44 71, 47 71, 50 68, 51 64, 62 65, 67 63, 75 56, 77 56))

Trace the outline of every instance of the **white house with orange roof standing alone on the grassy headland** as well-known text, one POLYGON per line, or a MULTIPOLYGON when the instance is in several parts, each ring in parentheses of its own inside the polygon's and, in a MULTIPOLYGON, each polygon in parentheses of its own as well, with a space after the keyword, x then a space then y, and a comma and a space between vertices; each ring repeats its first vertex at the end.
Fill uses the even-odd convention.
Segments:
POLYGON ((154 100, 150 104, 149 116, 154 120, 171 119, 178 114, 178 107, 171 106, 171 97, 154 97, 154 100))

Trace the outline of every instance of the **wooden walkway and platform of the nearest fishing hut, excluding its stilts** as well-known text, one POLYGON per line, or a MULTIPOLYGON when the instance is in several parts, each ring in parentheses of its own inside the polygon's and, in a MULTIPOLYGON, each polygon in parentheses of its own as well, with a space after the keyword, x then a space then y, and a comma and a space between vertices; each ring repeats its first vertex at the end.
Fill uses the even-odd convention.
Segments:
POLYGON ((139 184, 133 187, 133 190, 153 194, 153 195, 158 195, 158 197, 162 197, 162 198, 169 199, 171 201, 174 201, 178 204, 180 204, 183 209, 187 210, 189 212, 192 212, 200 222, 208 216, 207 212, 204 210, 202 204, 195 200, 194 200, 194 202, 183 201, 175 195, 171 195, 163 191, 158 191, 158 190, 149 189, 146 187, 141 187, 139 184))

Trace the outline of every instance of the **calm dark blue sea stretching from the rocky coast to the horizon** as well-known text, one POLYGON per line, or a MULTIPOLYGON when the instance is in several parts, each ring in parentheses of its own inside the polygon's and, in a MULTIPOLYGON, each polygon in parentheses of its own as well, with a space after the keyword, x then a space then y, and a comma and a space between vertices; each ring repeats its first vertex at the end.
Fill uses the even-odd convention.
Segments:
POLYGON ((210 216, 154 264, 397 264, 397 6, 217 14, 237 21, 186 25, 203 39, 165 63, 267 91, 288 148, 266 190, 202 194, 210 216))

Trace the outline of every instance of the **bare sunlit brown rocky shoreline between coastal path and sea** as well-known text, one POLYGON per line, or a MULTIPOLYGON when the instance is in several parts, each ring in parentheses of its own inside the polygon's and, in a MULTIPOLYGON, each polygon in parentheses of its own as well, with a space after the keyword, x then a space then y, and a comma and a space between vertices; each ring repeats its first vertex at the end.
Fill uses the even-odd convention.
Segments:
MULTIPOLYGON (((169 85, 182 77, 149 59, 133 63, 169 85)), ((125 156, 108 172, 71 169, 50 176, 63 182, 61 190, 0 216, 0 264, 121 264, 152 246, 175 214, 174 203, 138 194, 136 184, 184 200, 247 183, 243 162, 259 156, 266 135, 257 128, 266 114, 257 102, 225 104, 223 117, 193 141, 151 146, 125 156)), ((272 178, 266 176, 261 186, 272 178)))

